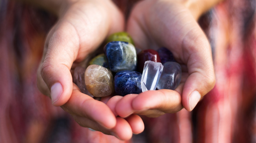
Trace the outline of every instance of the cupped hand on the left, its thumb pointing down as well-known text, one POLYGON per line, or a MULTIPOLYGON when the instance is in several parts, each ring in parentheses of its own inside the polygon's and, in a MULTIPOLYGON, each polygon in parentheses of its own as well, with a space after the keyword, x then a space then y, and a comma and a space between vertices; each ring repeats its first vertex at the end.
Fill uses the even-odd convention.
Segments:
POLYGON ((59 11, 59 20, 47 36, 37 74, 40 91, 52 99, 53 105, 69 112, 83 127, 115 135, 122 140, 130 139, 132 133, 142 132, 144 125, 139 116, 116 117, 105 103, 81 93, 72 83, 70 72, 88 58, 109 34, 123 31, 121 12, 111 0, 67 1, 59 11))

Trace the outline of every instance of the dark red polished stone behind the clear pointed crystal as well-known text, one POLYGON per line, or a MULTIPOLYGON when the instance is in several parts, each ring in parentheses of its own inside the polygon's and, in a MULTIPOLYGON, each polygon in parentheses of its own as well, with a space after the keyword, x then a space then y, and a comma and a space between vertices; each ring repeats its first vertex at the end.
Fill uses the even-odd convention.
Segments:
POLYGON ((137 64, 137 71, 143 71, 145 61, 154 61, 154 62, 161 62, 160 56, 157 51, 153 49, 147 49, 139 52, 137 55, 138 64, 137 64))

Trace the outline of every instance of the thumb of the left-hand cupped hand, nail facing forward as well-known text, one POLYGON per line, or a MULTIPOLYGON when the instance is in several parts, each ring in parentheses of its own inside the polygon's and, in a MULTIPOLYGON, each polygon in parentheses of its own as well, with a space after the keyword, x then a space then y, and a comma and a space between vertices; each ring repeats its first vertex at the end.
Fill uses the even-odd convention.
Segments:
POLYGON ((78 53, 79 37, 68 25, 52 31, 46 40, 47 50, 38 73, 38 87, 51 97, 53 105, 60 106, 69 100, 72 93, 70 69, 78 53), (69 38, 70 35, 72 38, 69 38))

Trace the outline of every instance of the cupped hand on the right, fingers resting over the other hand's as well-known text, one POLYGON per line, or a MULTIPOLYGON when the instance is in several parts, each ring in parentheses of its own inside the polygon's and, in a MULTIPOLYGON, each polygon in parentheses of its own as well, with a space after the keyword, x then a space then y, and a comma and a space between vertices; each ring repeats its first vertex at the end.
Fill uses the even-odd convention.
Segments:
POLYGON ((196 12, 177 0, 144 0, 132 10, 127 32, 141 49, 168 48, 182 66, 181 83, 175 90, 161 89, 113 97, 120 117, 133 113, 158 117, 191 111, 215 85, 211 48, 198 25, 196 12), (120 98, 118 101, 115 98, 120 98))

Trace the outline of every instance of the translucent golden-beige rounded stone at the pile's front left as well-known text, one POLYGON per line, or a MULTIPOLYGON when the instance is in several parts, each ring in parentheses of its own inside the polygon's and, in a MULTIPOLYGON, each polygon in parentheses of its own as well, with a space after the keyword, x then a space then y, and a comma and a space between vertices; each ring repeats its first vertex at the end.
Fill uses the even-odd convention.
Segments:
POLYGON ((99 65, 90 65, 85 71, 85 85, 95 97, 104 97, 114 93, 112 72, 99 65))

